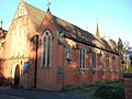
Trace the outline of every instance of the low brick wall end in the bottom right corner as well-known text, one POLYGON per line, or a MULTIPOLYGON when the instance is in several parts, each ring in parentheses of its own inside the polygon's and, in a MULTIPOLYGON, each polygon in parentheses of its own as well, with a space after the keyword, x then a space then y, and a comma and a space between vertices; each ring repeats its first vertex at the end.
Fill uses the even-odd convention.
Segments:
POLYGON ((132 99, 132 74, 124 74, 123 77, 125 99, 132 99))

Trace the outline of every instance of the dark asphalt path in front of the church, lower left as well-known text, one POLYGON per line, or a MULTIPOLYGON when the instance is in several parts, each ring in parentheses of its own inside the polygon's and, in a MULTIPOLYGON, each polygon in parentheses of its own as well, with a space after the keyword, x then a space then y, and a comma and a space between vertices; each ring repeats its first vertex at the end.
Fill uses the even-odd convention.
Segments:
POLYGON ((15 99, 82 99, 81 96, 72 92, 13 89, 11 87, 0 87, 0 94, 15 97, 15 99))

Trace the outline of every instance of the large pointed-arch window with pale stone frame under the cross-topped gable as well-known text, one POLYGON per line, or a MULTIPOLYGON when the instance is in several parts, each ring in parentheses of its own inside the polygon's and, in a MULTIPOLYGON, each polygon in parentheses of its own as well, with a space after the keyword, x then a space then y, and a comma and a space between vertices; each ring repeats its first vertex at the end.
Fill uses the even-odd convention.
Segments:
POLYGON ((52 33, 46 30, 42 36, 42 67, 51 66, 51 53, 52 53, 52 33))

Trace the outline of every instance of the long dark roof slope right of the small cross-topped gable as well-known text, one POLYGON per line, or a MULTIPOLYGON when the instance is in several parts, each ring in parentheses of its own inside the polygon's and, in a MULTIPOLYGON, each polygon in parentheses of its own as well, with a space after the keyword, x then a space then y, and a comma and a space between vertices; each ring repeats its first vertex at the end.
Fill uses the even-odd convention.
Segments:
POLYGON ((57 16, 53 15, 53 21, 58 28, 58 31, 65 33, 66 37, 72 38, 76 42, 87 44, 89 46, 94 46, 113 54, 118 54, 113 45, 108 43, 106 40, 95 36, 91 33, 81 30, 80 28, 70 24, 57 16))

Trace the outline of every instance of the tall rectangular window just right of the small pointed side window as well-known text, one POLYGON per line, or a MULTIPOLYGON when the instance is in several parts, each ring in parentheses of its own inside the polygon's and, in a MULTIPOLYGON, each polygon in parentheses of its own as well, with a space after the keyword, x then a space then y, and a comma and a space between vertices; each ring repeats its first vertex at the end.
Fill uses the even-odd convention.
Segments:
POLYGON ((86 50, 85 48, 80 48, 80 68, 86 68, 86 50))

